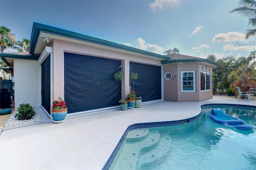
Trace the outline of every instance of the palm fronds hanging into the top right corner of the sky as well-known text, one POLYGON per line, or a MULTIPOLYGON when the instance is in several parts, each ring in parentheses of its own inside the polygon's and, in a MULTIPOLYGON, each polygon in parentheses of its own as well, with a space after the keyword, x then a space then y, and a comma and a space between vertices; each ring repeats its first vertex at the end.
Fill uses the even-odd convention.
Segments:
MULTIPOLYGON (((238 12, 241 16, 248 18, 248 26, 256 26, 256 1, 254 0, 240 0, 238 5, 241 7, 235 8, 231 12, 238 12)), ((229 12, 229 13, 231 13, 229 12)), ((256 29, 246 30, 245 40, 250 37, 256 36, 256 29)))

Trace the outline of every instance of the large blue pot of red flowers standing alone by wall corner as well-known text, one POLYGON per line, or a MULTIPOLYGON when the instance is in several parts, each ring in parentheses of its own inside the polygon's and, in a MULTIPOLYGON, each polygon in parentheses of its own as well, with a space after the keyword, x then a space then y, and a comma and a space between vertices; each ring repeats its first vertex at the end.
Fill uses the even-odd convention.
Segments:
POLYGON ((68 107, 66 107, 66 102, 58 98, 59 100, 52 102, 52 122, 62 123, 65 121, 66 115, 68 113, 68 107))

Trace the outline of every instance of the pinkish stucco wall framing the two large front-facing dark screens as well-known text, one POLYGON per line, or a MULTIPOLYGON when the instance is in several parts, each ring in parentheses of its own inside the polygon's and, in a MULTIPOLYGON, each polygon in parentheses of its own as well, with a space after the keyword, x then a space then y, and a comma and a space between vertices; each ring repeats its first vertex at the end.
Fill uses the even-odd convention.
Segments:
POLYGON ((110 50, 105 48, 93 47, 90 45, 66 42, 62 40, 54 40, 52 47, 54 100, 58 99, 59 96, 64 96, 64 52, 120 60, 123 65, 122 71, 124 71, 125 73, 125 78, 122 81, 122 99, 126 98, 126 87, 130 86, 130 61, 136 63, 145 63, 149 65, 162 66, 160 60, 138 56, 135 53, 124 53, 120 51, 114 51, 113 49, 110 50))

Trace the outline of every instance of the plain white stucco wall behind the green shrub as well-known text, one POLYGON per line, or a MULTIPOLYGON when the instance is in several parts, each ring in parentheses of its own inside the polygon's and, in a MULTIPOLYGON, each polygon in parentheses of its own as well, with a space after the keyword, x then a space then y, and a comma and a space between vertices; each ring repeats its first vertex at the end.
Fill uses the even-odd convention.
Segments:
POLYGON ((41 66, 38 61, 14 59, 15 108, 20 104, 41 105, 41 66))

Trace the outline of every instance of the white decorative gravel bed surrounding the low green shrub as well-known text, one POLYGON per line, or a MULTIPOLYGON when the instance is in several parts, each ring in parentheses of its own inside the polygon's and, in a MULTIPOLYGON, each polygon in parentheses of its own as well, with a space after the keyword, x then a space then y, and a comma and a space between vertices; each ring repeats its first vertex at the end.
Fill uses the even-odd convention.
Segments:
POLYGON ((36 109, 36 107, 33 107, 34 111, 36 112, 36 115, 32 117, 32 119, 29 120, 18 120, 14 116, 18 113, 18 111, 14 111, 8 121, 5 123, 4 127, 10 127, 10 126, 15 126, 15 125, 23 125, 27 123, 35 123, 35 122, 43 122, 43 119, 36 109))

